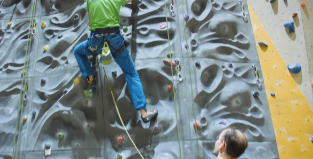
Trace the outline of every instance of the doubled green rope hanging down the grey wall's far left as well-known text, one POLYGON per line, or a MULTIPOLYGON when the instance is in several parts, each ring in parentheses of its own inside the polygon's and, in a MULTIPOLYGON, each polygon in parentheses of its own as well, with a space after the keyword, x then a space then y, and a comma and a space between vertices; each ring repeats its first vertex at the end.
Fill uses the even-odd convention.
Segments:
POLYGON ((17 140, 17 147, 16 147, 16 153, 15 153, 15 159, 18 158, 18 152, 19 152, 19 146, 20 146, 20 136, 21 136, 21 126, 22 126, 22 114, 23 114, 23 108, 24 108, 24 100, 22 101, 22 108, 21 108, 21 99, 24 96, 22 94, 23 88, 24 88, 24 94, 27 96, 27 87, 26 87, 26 83, 28 85, 28 81, 27 79, 27 72, 28 72, 28 63, 29 63, 29 53, 30 53, 30 44, 31 44, 31 40, 32 40, 32 35, 31 35, 31 29, 33 28, 33 21, 34 21, 34 16, 35 16, 35 8, 36 8, 36 0, 33 0, 33 5, 32 5, 32 11, 31 11, 31 16, 30 16, 30 22, 29 22, 29 29, 28 29, 28 37, 27 37, 27 44, 26 44, 26 53, 25 53, 25 61, 24 61, 24 68, 22 71, 22 84, 21 84, 21 92, 20 92, 20 100, 19 100, 19 107, 18 107, 18 116, 17 116, 17 120, 16 120, 16 126, 15 126, 15 134, 14 134, 14 143, 13 143, 13 151, 12 151, 12 159, 14 158, 14 149, 15 149, 15 141, 16 141, 16 137, 17 137, 17 127, 18 127, 18 123, 20 121, 20 127, 19 127, 19 134, 18 134, 18 140, 17 140), (26 62, 27 59, 27 62, 26 62), (25 70, 26 67, 26 70, 25 70), (25 79, 25 80, 24 80, 25 79), (21 108, 21 112, 20 112, 20 108, 21 108))

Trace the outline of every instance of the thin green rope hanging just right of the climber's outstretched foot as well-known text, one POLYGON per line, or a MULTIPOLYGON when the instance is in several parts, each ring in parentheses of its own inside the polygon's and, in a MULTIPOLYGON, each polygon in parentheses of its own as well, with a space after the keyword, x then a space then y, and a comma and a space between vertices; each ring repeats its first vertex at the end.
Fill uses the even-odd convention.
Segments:
MULTIPOLYGON (((169 24, 168 24, 168 12, 166 9, 166 1, 164 0, 164 6, 165 6, 165 15, 166 15, 166 25, 168 29, 168 41, 169 41, 169 24)), ((174 86, 174 76, 173 76, 173 65, 172 65, 172 56, 170 52, 170 43, 169 43, 169 58, 170 58, 170 69, 172 74, 172 84, 173 84, 173 93, 174 93, 174 102, 175 102, 175 111, 176 111, 176 122, 177 122, 177 133, 178 133, 178 144, 179 144, 179 154, 180 159, 182 159, 182 151, 180 146, 180 136, 179 136, 179 126, 178 126, 178 115, 177 115, 177 106, 176 106, 176 97, 175 97, 175 86, 174 86)))

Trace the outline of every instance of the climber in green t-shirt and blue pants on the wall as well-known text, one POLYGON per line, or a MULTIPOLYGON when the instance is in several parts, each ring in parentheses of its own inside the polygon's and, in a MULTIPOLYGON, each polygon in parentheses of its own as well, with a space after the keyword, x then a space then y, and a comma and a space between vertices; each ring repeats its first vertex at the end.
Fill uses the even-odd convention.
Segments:
POLYGON ((87 56, 99 54, 107 41, 113 58, 123 71, 134 107, 141 111, 141 118, 147 123, 158 115, 158 111, 146 110, 142 83, 120 34, 120 7, 128 2, 131 0, 87 0, 91 34, 88 40, 75 47, 74 55, 82 76, 87 79, 85 89, 94 88, 96 75, 87 56))

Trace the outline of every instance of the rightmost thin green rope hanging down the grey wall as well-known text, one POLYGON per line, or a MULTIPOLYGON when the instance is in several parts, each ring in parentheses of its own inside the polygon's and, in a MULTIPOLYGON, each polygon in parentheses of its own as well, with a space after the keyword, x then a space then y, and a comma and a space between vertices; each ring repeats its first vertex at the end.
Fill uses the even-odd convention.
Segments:
MULTIPOLYGON (((185 38, 186 38, 186 46, 187 46, 187 54, 188 54, 188 64, 189 64, 189 75, 190 75, 190 85, 191 85, 191 90, 192 90, 192 98, 193 98, 193 79, 191 76, 191 67, 190 67, 190 58, 189 58, 189 46, 187 43, 187 33, 186 33, 186 21, 184 19, 184 4, 183 0, 182 2, 182 9, 183 9, 183 21, 184 21, 184 28, 185 28, 185 38)), ((194 124, 196 125, 196 115, 195 115, 195 108, 194 108, 194 98, 193 98, 193 115, 194 115, 194 124)), ((200 159, 200 152, 199 152, 199 140, 198 140, 198 132, 197 132, 197 127, 195 127, 195 135, 197 137, 197 146, 198 146, 198 159, 200 159)))

